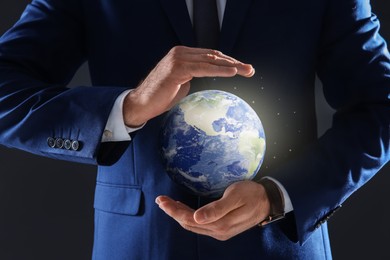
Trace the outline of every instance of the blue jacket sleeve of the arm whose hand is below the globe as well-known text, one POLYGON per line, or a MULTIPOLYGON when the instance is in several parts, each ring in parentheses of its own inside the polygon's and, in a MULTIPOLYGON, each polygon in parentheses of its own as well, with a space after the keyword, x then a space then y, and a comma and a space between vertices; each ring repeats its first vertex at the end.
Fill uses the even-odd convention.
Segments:
POLYGON ((336 110, 332 127, 274 175, 301 243, 390 157, 390 57, 377 17, 368 0, 328 2, 317 71, 336 110))

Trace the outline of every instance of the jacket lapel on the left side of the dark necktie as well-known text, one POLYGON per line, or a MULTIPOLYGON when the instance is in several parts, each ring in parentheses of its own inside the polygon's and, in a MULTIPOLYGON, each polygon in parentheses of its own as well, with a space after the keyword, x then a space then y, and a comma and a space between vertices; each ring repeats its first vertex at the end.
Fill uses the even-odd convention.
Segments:
MULTIPOLYGON (((196 1, 196 0, 195 0, 196 1)), ((160 0, 179 41, 185 46, 195 46, 191 19, 184 0, 160 0)))

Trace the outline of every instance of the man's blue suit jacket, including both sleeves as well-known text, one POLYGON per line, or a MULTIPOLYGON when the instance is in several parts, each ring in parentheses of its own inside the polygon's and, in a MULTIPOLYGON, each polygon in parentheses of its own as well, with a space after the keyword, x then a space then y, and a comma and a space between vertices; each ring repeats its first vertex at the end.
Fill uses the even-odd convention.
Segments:
POLYGON ((0 143, 99 165, 95 259, 330 259, 324 222, 389 159, 390 57, 378 29, 368 0, 228 0, 219 49, 256 75, 206 88, 257 111, 267 137, 259 177, 284 185, 294 213, 225 242, 183 230, 154 203, 207 203, 165 174, 163 115, 131 142, 100 142, 116 97, 173 46, 195 45, 185 1, 32 1, 0 40, 0 143), (94 87, 65 88, 85 61, 94 87), (316 74, 336 110, 319 139, 316 74))

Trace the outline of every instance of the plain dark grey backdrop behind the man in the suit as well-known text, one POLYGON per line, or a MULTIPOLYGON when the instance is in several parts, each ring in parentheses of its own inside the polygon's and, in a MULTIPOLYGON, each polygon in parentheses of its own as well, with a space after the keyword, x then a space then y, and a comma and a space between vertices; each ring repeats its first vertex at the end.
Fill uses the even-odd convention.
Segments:
MULTIPOLYGON (((29 2, 1 0, 0 34, 29 2)), ((371 2, 382 35, 390 42, 390 2, 371 2)), ((86 66, 73 84, 89 84, 86 66)), ((332 110, 324 103, 320 85, 317 89, 321 134, 332 110)), ((329 221, 334 259, 390 259, 389 174, 387 166, 329 221)), ((0 146, 0 259, 90 259, 95 176, 94 166, 0 146)))

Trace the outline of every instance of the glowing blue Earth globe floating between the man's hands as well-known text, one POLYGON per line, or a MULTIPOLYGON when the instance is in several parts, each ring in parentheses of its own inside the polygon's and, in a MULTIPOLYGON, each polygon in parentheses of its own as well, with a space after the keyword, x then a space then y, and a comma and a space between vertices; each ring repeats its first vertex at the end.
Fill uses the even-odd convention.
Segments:
POLYGON ((170 178, 207 197, 219 197, 232 183, 252 179, 266 146, 256 112, 220 90, 193 93, 174 106, 164 119, 161 142, 170 178))

